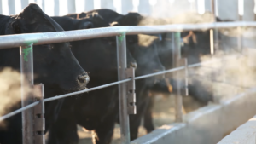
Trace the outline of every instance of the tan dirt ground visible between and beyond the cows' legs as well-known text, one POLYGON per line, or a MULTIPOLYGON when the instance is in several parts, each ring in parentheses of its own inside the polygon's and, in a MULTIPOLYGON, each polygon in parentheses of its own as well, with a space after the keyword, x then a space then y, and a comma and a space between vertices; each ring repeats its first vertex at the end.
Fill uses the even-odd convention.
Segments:
MULTIPOLYGON (((174 95, 158 94, 155 96, 154 101, 154 126, 160 127, 163 124, 171 124, 172 122, 174 122, 174 95)), ((184 96, 183 106, 185 112, 191 112, 198 109, 199 107, 203 107, 203 104, 195 101, 190 96, 184 96)), ((119 134, 119 124, 116 124, 112 144, 120 144, 119 134)), ((143 125, 140 126, 139 137, 146 134, 147 131, 143 128, 143 125)), ((89 131, 81 129, 81 127, 79 127, 79 138, 79 144, 92 144, 91 133, 89 131)))

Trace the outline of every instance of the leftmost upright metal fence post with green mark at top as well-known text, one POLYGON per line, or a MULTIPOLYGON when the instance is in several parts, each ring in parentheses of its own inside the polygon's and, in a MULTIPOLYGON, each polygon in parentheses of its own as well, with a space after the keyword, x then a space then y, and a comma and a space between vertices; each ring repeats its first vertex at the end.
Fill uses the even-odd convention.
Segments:
MULTIPOLYGON (((33 50, 32 43, 20 46, 20 73, 21 73, 21 106, 26 107, 33 102, 33 50)), ((33 144, 33 109, 22 112, 23 144, 33 144)))

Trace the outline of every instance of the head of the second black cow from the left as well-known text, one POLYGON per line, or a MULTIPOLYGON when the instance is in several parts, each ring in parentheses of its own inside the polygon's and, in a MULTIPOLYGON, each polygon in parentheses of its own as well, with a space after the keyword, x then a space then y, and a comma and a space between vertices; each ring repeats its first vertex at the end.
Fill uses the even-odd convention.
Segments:
MULTIPOLYGON (((88 14, 85 18, 74 20, 68 17, 53 17, 65 30, 90 29, 110 26, 98 14, 88 14), (70 24, 70 25, 69 25, 70 24)), ((91 86, 99 83, 107 84, 117 78, 117 50, 115 37, 86 39, 72 43, 73 54, 78 58, 81 66, 90 72, 94 79, 91 86), (92 62, 93 61, 93 62, 92 62), (104 73, 104 74, 102 74, 104 73)), ((127 51, 128 66, 137 66, 135 60, 127 51)))

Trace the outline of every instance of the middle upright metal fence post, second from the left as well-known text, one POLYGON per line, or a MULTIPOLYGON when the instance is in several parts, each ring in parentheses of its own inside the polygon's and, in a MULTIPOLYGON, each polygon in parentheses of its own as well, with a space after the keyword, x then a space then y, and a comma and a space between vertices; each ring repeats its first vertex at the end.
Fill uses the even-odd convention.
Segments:
MULTIPOLYGON (((126 78, 126 40, 125 32, 116 36, 117 41, 117 60, 118 60, 118 78, 126 78)), ((127 109, 127 85, 119 84, 119 119, 122 144, 130 143, 129 115, 127 109)))

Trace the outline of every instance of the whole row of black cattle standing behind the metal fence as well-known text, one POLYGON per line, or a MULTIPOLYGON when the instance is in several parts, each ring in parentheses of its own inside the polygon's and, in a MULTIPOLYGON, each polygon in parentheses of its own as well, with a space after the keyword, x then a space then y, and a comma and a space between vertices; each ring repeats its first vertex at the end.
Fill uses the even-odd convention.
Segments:
MULTIPOLYGON (((61 32, 108 26, 138 26, 144 16, 138 13, 118 14, 110 9, 98 9, 81 14, 68 14, 62 17, 49 17, 37 4, 30 4, 20 14, 0 15, 0 34, 20 34, 34 32, 61 32)), ((188 57, 189 64, 200 62, 200 55, 210 54, 210 34, 206 32, 182 32, 186 38, 182 55, 188 57), (195 41, 195 38, 201 38, 195 41)), ((126 36, 127 66, 136 69, 136 76, 160 72, 173 68, 172 39, 170 33, 159 35, 126 36)), ((118 81, 117 49, 115 37, 102 37, 53 43, 33 47, 33 69, 37 77, 35 84, 44 84, 45 97, 62 95, 68 92, 92 88, 118 81), (90 82, 89 82, 90 78, 90 82)), ((20 71, 20 52, 18 48, 0 50, 0 70, 12 67, 20 71)), ((136 81, 137 114, 130 115, 131 140, 137 138, 138 128, 144 119, 144 127, 154 130, 152 121, 154 90, 167 92, 164 76, 136 81), (158 83, 156 83, 158 82, 158 83)), ((169 78, 171 84, 175 80, 169 78)), ((175 89, 175 86, 173 86, 175 89)), ((189 95, 196 98, 195 86, 189 85, 189 95)), ((175 92, 175 90, 174 90, 175 92)), ((96 144, 111 143, 114 125, 119 123, 118 86, 98 89, 45 103, 45 127, 49 133, 48 144, 77 144, 79 142, 77 125, 93 132, 96 144)), ((207 100, 211 101, 210 95, 207 100)), ((1 101, 1 100, 0 100, 1 101)), ((200 98, 199 98, 199 101, 200 98)), ((20 102, 17 103, 18 107, 20 102)), ((15 106, 11 111, 17 108, 15 106)), ((10 112, 11 112, 10 111, 10 112)), ((0 123, 1 144, 21 144, 21 114, 0 123)))

